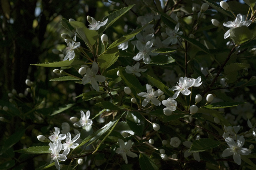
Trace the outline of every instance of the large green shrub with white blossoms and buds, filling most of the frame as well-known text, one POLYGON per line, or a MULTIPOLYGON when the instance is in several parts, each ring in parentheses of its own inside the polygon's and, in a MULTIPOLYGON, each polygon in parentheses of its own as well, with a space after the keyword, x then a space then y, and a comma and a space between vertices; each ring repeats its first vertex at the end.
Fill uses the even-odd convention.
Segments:
MULTIPOLYGON (((106 3, 115 10, 103 19, 62 18, 62 59, 33 65, 54 68, 59 77, 50 81, 81 91, 50 114, 40 103, 20 114, 35 111, 49 124, 37 144, 15 152, 40 154, 38 169, 255 169, 255 1, 123 2, 106 3), (114 35, 120 20, 126 25, 114 35)), ((36 83, 26 84, 36 101, 36 83)))

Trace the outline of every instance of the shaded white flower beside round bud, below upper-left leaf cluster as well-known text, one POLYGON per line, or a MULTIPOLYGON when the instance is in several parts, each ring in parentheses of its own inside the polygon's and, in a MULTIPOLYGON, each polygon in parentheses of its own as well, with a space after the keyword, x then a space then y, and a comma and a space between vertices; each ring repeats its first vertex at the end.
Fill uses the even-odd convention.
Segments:
POLYGON ((97 81, 104 82, 106 79, 103 75, 97 75, 98 70, 99 70, 98 64, 94 61, 91 69, 86 70, 86 75, 82 79, 83 85, 87 83, 91 83, 93 89, 96 90, 97 92, 100 91, 97 81))

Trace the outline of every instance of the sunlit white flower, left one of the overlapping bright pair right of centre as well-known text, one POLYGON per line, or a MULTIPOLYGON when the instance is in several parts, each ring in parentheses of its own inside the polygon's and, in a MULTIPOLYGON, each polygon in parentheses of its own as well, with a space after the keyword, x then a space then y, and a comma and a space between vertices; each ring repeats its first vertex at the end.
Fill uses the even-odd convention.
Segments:
POLYGON ((192 87, 194 85, 195 79, 191 80, 190 82, 187 82, 183 77, 180 78, 180 82, 178 83, 178 85, 173 86, 172 88, 169 88, 169 90, 178 90, 177 92, 174 93, 173 95, 173 99, 176 99, 178 97, 178 95, 180 94, 180 92, 183 95, 190 95, 190 90, 188 90, 188 88, 192 87))

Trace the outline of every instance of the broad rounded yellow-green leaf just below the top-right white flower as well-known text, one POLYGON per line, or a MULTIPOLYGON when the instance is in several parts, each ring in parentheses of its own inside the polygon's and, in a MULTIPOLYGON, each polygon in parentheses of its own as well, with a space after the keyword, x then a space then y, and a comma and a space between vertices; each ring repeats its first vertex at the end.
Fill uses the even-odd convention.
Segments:
POLYGON ((234 41, 236 45, 243 44, 253 38, 253 33, 249 30, 247 26, 240 26, 230 30, 230 38, 234 41))

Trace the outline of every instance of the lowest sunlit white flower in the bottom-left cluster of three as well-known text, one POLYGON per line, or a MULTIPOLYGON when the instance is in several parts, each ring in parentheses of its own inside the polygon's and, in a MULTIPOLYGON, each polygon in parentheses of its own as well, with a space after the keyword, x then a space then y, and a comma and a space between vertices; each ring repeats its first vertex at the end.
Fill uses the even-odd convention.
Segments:
POLYGON ((63 154, 60 154, 60 150, 62 149, 62 142, 58 141, 57 143, 53 144, 52 142, 49 143, 50 145, 50 149, 52 150, 51 153, 51 157, 52 157, 52 161, 51 162, 55 162, 55 167, 60 170, 60 163, 58 160, 60 161, 65 161, 66 160, 66 156, 63 154))

